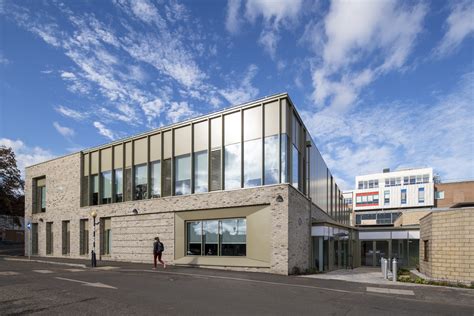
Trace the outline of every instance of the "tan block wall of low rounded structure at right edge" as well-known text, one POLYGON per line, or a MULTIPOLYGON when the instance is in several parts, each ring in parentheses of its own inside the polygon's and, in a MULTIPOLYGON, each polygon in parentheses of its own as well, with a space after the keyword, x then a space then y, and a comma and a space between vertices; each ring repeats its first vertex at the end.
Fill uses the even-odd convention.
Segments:
POLYGON ((433 212, 420 220, 420 271, 429 277, 474 282, 474 208, 433 212), (429 255, 426 260, 425 241, 429 255))

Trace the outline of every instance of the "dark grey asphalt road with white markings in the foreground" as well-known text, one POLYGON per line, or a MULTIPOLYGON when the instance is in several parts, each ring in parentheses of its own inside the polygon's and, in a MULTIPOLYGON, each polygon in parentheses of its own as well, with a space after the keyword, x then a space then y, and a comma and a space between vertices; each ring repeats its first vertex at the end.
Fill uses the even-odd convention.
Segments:
POLYGON ((0 258, 0 315, 474 315, 474 290, 467 289, 115 265, 83 269, 0 258), (403 294, 383 293, 388 289, 403 294))

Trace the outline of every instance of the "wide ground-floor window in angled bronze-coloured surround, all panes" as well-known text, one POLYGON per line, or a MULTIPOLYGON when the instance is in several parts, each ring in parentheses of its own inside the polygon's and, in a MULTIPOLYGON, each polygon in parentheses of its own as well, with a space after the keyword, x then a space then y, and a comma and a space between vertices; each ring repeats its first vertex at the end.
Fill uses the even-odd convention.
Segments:
POLYGON ((245 256, 247 221, 232 218, 186 223, 187 255, 245 256))

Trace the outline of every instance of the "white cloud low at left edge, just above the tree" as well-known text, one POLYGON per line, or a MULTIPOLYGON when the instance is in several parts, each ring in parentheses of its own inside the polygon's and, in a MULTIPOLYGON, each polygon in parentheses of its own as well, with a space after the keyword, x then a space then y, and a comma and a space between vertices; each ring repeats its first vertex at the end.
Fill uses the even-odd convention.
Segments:
POLYGON ((22 178, 25 177, 26 167, 54 158, 54 155, 49 150, 41 147, 27 146, 19 139, 0 138, 0 145, 13 149, 22 178))

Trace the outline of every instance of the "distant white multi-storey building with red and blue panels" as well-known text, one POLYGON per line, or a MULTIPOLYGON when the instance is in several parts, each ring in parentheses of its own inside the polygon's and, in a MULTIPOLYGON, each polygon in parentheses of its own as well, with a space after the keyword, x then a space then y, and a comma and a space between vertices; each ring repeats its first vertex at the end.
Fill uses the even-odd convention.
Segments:
POLYGON ((352 208, 356 225, 390 225, 404 209, 434 206, 432 168, 357 176, 352 208))

